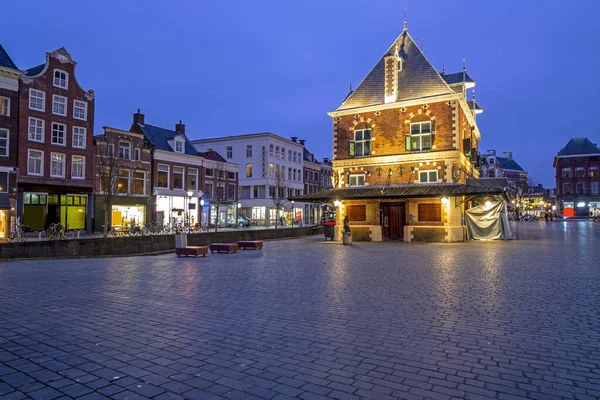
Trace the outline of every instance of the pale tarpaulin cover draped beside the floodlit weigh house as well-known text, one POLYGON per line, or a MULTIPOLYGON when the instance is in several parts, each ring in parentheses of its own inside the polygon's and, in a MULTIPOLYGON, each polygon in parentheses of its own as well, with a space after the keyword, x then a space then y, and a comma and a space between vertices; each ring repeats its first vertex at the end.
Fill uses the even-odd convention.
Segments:
POLYGON ((503 199, 487 201, 465 211, 467 239, 495 240, 512 239, 506 203, 503 199))

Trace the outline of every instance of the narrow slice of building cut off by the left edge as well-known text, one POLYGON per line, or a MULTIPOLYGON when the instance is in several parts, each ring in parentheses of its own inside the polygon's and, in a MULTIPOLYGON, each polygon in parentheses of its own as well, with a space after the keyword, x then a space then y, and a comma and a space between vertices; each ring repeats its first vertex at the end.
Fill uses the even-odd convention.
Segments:
POLYGON ((16 217, 20 75, 0 45, 0 239, 16 217))

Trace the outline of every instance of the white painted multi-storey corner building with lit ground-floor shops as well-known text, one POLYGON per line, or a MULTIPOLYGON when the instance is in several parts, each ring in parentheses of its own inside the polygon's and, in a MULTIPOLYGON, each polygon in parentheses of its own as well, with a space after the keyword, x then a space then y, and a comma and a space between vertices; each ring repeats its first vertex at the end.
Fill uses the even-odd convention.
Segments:
MULTIPOLYGON (((199 152, 214 150, 240 166, 239 212, 253 221, 274 224, 278 218, 274 199, 303 194, 304 146, 296 137, 290 140, 265 132, 200 139, 192 144, 199 152)), ((283 216, 286 224, 304 219, 304 204, 286 200, 281 208, 279 217, 283 216)))

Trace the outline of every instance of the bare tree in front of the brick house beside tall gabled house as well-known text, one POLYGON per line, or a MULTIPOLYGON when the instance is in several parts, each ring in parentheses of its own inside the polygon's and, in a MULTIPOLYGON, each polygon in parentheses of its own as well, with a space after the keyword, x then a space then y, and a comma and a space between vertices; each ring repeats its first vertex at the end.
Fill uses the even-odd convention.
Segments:
POLYGON ((108 236, 109 227, 112 225, 112 206, 115 204, 116 197, 126 196, 129 192, 129 182, 127 187, 119 182, 121 178, 121 167, 114 154, 114 145, 99 142, 96 145, 96 197, 102 201, 104 208, 104 237, 108 236), (109 150, 112 149, 112 150, 109 150))

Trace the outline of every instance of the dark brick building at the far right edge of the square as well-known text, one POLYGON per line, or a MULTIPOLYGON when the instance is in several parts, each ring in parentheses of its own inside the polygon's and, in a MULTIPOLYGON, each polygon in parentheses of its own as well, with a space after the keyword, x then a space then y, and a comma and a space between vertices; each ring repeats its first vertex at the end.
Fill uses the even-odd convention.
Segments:
POLYGON ((556 200, 565 217, 600 216, 600 149, 588 138, 569 140, 556 157, 556 200))

